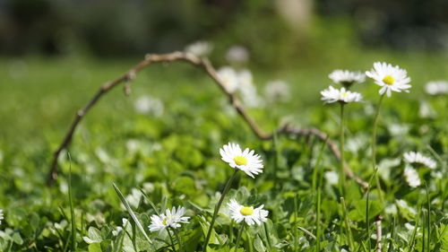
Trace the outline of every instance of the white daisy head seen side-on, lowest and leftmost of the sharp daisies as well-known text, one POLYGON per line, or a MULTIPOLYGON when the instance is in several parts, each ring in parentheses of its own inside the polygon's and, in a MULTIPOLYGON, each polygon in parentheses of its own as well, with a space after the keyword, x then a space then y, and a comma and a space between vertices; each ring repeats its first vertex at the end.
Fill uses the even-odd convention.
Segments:
POLYGON ((151 225, 149 226, 151 231, 162 231, 171 227, 173 229, 177 229, 180 227, 180 223, 188 223, 188 219, 190 217, 185 217, 185 208, 184 207, 173 207, 173 209, 165 211, 165 213, 161 213, 160 215, 152 215, 151 216, 151 225))

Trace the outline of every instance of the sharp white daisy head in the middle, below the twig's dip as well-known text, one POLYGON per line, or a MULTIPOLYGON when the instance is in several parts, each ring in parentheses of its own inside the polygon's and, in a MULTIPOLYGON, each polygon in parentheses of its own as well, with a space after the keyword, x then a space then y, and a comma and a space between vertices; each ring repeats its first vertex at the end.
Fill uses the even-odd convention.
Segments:
POLYGON ((263 163, 260 155, 254 154, 246 148, 244 152, 237 143, 228 143, 220 149, 221 159, 228 162, 231 168, 241 169, 246 172, 249 177, 263 172, 263 163))

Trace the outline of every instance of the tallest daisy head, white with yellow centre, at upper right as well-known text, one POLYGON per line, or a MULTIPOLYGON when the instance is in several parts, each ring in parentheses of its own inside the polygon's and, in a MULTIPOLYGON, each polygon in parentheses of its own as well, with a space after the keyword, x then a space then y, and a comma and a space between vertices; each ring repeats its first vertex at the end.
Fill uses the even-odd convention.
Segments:
POLYGON ((392 66, 387 63, 375 62, 374 68, 371 71, 366 71, 366 75, 382 87, 379 93, 385 92, 388 97, 391 97, 392 91, 409 92, 408 89, 411 87, 408 84, 410 83, 408 73, 398 65, 392 66))

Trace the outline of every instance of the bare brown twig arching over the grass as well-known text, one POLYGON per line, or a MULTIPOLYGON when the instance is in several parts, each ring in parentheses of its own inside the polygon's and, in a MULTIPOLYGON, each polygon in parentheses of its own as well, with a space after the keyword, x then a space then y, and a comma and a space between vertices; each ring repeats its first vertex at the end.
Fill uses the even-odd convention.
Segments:
MULTIPOLYGON (((263 130, 255 123, 254 119, 247 114, 246 109, 244 109, 242 103, 237 99, 237 96, 231 91, 228 91, 226 89, 225 83, 221 82, 221 80, 218 77, 218 74, 216 73, 215 68, 211 65, 208 59, 199 58, 197 56, 194 56, 193 54, 178 51, 168 54, 147 55, 145 56, 145 59, 142 60, 142 62, 135 65, 125 74, 116 78, 116 80, 103 84, 101 88, 99 88, 99 91, 97 91, 96 94, 87 103, 87 105, 76 113, 73 119, 73 123, 70 126, 69 130, 67 131, 63 142, 53 153, 53 161, 51 162, 50 171, 48 173, 47 185, 51 185, 52 182, 57 178, 57 159, 59 157, 60 152, 62 152, 62 150, 64 150, 67 147, 67 145, 72 142, 74 130, 81 122, 82 117, 84 117, 84 115, 91 109, 93 105, 95 105, 95 103, 97 103, 99 98, 101 98, 108 91, 116 87, 118 84, 128 83, 132 81, 135 78, 135 75, 143 68, 152 65, 154 63, 168 63, 173 61, 184 61, 191 65, 196 65, 199 68, 202 68, 202 70, 205 71, 205 73, 208 74, 216 84, 218 84, 221 91, 223 91, 226 94, 230 105, 237 110, 237 113, 240 115, 240 117, 242 117, 246 121, 247 125, 251 128, 254 134, 262 140, 272 139, 273 134, 264 133, 263 130)), ((316 128, 298 129, 293 126, 285 125, 280 126, 275 132, 277 135, 295 135, 298 137, 314 135, 321 141, 325 141, 327 139, 327 135, 316 128)), ((330 148, 330 150, 332 151, 333 155, 336 158, 340 159, 340 152, 336 143, 333 143, 330 140, 326 141, 326 143, 330 148)), ((355 181, 357 181, 358 184, 363 188, 367 187, 367 182, 356 176, 351 171, 351 169, 349 169, 349 166, 347 164, 344 165, 344 169, 346 171, 348 178, 355 179, 355 181)))

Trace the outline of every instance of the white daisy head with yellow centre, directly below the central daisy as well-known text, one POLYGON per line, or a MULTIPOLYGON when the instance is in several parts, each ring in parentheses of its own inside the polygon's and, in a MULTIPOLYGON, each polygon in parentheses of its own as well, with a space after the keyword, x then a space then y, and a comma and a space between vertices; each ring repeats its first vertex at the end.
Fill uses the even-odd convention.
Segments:
POLYGON ((239 223, 245 221, 247 225, 251 226, 256 223, 260 225, 262 222, 267 222, 268 211, 263 210, 264 204, 254 209, 254 206, 244 206, 238 204, 235 199, 231 199, 228 203, 230 209, 230 218, 239 223))

